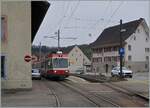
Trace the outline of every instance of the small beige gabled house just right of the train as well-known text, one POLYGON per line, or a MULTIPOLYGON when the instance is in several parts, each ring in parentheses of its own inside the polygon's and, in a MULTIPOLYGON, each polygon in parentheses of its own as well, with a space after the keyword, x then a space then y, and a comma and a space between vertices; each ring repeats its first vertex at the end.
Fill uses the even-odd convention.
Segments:
POLYGON ((90 71, 91 61, 78 46, 74 46, 68 53, 69 70, 71 73, 86 73, 90 71))

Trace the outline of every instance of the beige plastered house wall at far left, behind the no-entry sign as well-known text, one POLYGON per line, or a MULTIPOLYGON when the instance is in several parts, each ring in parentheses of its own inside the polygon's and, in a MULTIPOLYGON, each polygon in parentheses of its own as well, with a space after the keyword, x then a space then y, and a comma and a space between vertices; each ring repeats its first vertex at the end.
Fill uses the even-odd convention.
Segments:
MULTIPOLYGON (((41 2, 1 2, 1 87, 2 89, 31 89, 31 37, 36 33, 32 18, 34 7, 41 2), (31 17, 32 14, 32 17, 31 17), (32 26, 32 28, 31 28, 32 26), (32 35, 32 36, 31 36, 32 35)), ((41 7, 41 5, 39 5, 41 7)), ((40 13, 40 11, 39 11, 40 13)), ((41 15, 41 14, 40 14, 41 15)), ((39 15, 38 15, 39 16, 39 15)), ((38 19, 38 17, 36 17, 38 19)), ((36 24, 40 24, 36 22, 36 24)), ((34 35, 35 36, 35 35, 34 35)))

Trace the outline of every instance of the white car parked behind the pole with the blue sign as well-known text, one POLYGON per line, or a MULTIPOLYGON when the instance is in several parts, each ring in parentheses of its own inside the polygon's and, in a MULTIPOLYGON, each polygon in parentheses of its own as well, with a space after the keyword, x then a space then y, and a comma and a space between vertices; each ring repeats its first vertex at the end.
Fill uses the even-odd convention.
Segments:
MULTIPOLYGON (((111 76, 120 76, 120 67, 114 67, 111 71, 111 76)), ((126 67, 122 67, 122 76, 132 78, 133 72, 126 67)))

